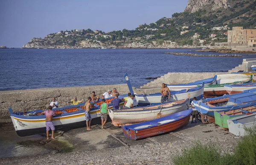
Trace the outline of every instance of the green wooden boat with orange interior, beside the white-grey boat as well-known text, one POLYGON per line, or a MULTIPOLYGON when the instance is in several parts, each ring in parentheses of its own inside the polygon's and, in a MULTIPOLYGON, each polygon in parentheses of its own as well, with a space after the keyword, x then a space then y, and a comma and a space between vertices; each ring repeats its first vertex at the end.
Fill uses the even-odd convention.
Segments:
POLYGON ((227 119, 233 119, 235 117, 240 117, 256 112, 256 102, 250 103, 249 105, 244 105, 244 107, 224 110, 224 111, 215 111, 214 118, 215 124, 221 126, 224 129, 228 129, 227 119))

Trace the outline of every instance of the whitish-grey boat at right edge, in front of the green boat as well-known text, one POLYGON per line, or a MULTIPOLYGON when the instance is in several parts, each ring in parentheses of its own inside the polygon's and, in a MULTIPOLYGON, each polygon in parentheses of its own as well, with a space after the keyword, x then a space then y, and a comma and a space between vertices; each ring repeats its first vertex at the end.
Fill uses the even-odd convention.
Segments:
POLYGON ((256 113, 228 119, 227 125, 230 133, 244 136, 247 134, 244 128, 251 128, 256 125, 256 113))

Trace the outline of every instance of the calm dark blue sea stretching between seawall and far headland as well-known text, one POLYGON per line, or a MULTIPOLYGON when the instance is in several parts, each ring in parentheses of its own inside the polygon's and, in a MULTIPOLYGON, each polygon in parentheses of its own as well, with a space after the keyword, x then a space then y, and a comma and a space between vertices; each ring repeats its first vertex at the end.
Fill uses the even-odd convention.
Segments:
MULTIPOLYGON (((164 52, 195 49, 0 49, 0 91, 125 83, 139 87, 168 72, 227 71, 243 57, 187 57, 164 52)), ((217 54, 217 53, 215 53, 217 54)))

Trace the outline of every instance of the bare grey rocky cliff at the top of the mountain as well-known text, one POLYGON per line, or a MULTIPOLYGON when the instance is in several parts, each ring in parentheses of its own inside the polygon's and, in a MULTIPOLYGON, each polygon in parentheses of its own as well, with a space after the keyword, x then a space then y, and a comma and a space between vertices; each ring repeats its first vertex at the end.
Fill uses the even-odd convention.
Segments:
POLYGON ((228 7, 228 0, 189 0, 185 12, 194 13, 200 9, 215 11, 217 9, 227 9, 228 7))

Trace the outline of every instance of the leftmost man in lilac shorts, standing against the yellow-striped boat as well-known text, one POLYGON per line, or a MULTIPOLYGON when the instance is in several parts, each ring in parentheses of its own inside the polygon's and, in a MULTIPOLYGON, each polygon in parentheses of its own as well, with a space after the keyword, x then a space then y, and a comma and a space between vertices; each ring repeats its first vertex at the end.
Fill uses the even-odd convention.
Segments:
POLYGON ((52 130, 52 139, 55 140, 55 138, 54 138, 55 127, 54 127, 54 124, 52 122, 52 116, 55 115, 55 112, 52 111, 52 106, 51 105, 48 108, 49 108, 48 110, 42 112, 42 114, 45 114, 45 116, 46 116, 46 119, 45 119, 46 136, 47 136, 47 140, 48 140, 49 139, 49 131, 51 129, 52 130))

